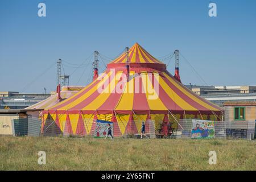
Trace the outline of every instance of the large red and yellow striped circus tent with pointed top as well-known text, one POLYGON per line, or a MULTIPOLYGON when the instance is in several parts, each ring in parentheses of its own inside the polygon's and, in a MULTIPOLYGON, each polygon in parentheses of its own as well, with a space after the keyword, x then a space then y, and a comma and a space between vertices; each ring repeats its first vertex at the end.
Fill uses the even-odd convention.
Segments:
POLYGON ((44 110, 42 128, 50 119, 62 133, 93 134, 96 119, 100 119, 113 122, 114 136, 121 136, 139 133, 141 121, 220 120, 221 115, 220 107, 176 81, 166 64, 135 43, 129 52, 110 62, 97 80, 44 110))

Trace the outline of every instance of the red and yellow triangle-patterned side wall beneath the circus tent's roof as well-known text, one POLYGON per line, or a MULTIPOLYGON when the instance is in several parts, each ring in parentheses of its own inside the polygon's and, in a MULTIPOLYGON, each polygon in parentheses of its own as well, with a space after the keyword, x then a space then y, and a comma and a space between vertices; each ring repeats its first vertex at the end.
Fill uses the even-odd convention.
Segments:
POLYGON ((215 114, 44 114, 42 134, 44 135, 96 135, 97 121, 113 123, 114 137, 141 133, 142 121, 146 133, 167 135, 169 127, 177 129, 179 119, 203 119, 221 121, 215 114), (154 128, 154 131, 153 131, 154 128))

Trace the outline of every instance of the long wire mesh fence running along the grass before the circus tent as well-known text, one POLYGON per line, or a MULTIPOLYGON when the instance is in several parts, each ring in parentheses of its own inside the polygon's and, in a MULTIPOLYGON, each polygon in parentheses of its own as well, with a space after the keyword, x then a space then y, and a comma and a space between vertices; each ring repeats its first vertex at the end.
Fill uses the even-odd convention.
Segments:
MULTIPOLYGON (((199 119, 179 119, 174 123, 168 123, 168 138, 220 138, 220 139, 254 139, 256 133, 255 121, 206 121, 199 119)), ((44 125, 39 118, 28 117, 11 120, 14 136, 86 136, 105 137, 108 134, 108 124, 112 128, 114 137, 141 137, 142 120, 123 123, 125 127, 119 127, 120 123, 87 119, 78 124, 77 121, 56 122, 46 119, 44 125), (76 127, 74 127, 76 126, 76 127)), ((6 125, 5 125, 6 126, 6 125)), ((10 129, 9 129, 10 130, 10 129)), ((1 130, 2 132, 2 130, 1 130)), ((145 121, 145 134, 149 138, 156 138, 155 121, 145 121)), ((1 135, 1 133, 0 133, 1 135)))

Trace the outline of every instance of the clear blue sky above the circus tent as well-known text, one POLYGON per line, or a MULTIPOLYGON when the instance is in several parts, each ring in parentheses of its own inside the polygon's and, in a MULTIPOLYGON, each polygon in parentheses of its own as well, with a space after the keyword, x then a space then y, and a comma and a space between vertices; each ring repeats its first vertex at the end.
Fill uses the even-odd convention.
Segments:
MULTIPOLYGON (((83 63, 63 64, 70 85, 86 85, 92 79, 86 58, 94 50, 113 58, 135 42, 155 57, 179 49, 208 85, 256 85, 255 0, 1 0, 0 91, 55 90, 59 58, 83 63), (38 16, 40 2, 46 17, 38 16), (217 17, 208 15, 210 2, 217 17)), ((168 71, 174 66, 172 60, 168 71)), ((204 84, 183 57, 180 74, 184 84, 204 84)))

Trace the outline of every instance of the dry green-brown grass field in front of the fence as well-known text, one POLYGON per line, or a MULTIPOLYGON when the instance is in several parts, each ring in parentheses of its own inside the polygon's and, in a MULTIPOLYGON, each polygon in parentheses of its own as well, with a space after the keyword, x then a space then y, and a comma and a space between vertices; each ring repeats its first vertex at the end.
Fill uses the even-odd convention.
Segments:
POLYGON ((256 170, 255 140, 0 137, 0 170, 256 170), (217 164, 209 165, 209 151, 217 164), (46 165, 38 152, 46 152, 46 165))

